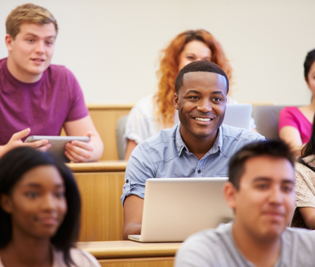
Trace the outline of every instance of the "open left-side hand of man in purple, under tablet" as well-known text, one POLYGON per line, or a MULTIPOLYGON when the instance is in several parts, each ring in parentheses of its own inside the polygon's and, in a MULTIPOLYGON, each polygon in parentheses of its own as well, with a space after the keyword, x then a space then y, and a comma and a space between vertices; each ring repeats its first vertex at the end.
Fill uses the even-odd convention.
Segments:
POLYGON ((20 132, 14 133, 9 142, 3 146, 0 146, 0 157, 2 157, 4 154, 12 150, 13 148, 25 146, 25 147, 31 147, 36 148, 39 151, 45 152, 48 150, 48 148, 51 147, 51 144, 49 144, 48 140, 38 140, 30 143, 23 143, 22 138, 29 135, 31 132, 30 128, 26 128, 20 132))

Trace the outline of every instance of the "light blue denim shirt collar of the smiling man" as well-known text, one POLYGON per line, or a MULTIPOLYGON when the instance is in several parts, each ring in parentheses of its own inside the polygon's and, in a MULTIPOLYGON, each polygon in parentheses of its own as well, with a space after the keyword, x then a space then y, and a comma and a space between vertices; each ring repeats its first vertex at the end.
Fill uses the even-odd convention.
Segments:
MULTIPOLYGON (((215 154, 219 152, 221 153, 221 148, 222 148, 222 127, 218 129, 218 135, 215 138, 215 142, 213 143, 212 147, 209 149, 209 151, 203 156, 203 158, 209 156, 210 154, 215 154)), ((175 143, 176 143, 176 148, 178 152, 178 156, 180 156, 183 152, 183 149, 185 148, 185 151, 189 153, 188 148, 186 147, 186 144, 184 143, 183 138, 181 137, 180 134, 180 123, 177 125, 177 129, 175 132, 175 143)))

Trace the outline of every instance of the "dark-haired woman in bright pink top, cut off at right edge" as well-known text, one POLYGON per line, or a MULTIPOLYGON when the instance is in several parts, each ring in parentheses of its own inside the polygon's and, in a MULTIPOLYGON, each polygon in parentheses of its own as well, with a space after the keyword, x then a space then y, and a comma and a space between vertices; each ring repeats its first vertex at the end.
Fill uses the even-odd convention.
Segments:
POLYGON ((308 52, 306 56, 304 78, 313 94, 311 104, 303 107, 285 107, 279 115, 279 137, 298 155, 301 155, 301 149, 312 134, 315 113, 315 49, 308 52))

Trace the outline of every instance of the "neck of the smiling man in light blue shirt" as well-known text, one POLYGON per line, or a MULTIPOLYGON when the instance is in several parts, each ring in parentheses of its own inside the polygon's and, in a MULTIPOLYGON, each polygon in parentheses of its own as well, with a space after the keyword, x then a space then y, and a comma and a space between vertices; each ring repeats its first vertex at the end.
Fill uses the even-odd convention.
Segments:
POLYGON ((207 137, 196 137, 180 125, 180 134, 189 152, 193 153, 200 160, 212 148, 218 135, 218 130, 207 137))

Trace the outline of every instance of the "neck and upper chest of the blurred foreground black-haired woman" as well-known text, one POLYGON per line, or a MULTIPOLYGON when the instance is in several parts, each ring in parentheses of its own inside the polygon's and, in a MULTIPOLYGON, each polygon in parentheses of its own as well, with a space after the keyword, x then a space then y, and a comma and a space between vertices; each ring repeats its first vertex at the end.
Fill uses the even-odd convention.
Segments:
POLYGON ((38 239, 12 230, 12 240, 0 250, 4 266, 52 265, 50 238, 38 239))

